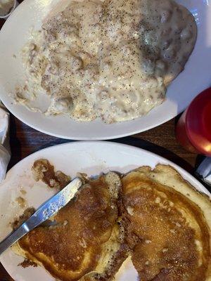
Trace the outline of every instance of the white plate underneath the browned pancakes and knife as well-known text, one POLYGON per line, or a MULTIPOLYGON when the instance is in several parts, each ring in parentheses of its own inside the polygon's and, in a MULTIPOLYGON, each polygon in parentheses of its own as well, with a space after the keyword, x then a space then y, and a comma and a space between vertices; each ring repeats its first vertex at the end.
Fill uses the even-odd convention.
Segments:
MULTIPOLYGON (((17 202, 15 203, 15 198, 23 196, 20 192, 21 188, 27 191, 25 198, 28 205, 35 208, 39 207, 53 193, 53 190, 46 188, 44 184, 35 183, 32 178, 31 166, 34 160, 41 157, 49 159, 56 169, 70 176, 75 176, 77 172, 87 173, 91 176, 101 172, 106 173, 109 170, 126 173, 142 165, 153 168, 158 163, 170 164, 198 190, 210 195, 203 185, 184 169, 146 150, 107 142, 76 142, 56 145, 39 150, 8 171, 6 180, 0 186, 0 240, 11 231, 8 223, 13 221, 15 216, 23 213, 23 209, 18 207, 17 202)), ((18 267, 18 263, 22 262, 23 259, 15 255, 11 249, 0 256, 0 261, 15 281, 55 281, 43 268, 23 269, 18 267)), ((127 281, 128 275, 130 280, 136 280, 136 270, 133 270, 131 265, 118 275, 117 281, 127 281)))

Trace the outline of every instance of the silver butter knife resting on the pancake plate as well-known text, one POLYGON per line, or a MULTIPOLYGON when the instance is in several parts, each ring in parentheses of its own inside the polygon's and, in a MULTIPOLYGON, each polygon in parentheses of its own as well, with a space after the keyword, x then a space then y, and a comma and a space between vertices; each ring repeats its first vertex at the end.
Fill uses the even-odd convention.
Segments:
POLYGON ((41 206, 25 221, 17 230, 9 234, 0 243, 0 255, 17 242, 21 237, 30 232, 30 230, 36 228, 44 221, 48 220, 56 214, 61 208, 65 207, 72 198, 75 197, 76 192, 82 186, 80 178, 75 178, 69 183, 63 190, 53 195, 49 200, 41 204, 41 206))

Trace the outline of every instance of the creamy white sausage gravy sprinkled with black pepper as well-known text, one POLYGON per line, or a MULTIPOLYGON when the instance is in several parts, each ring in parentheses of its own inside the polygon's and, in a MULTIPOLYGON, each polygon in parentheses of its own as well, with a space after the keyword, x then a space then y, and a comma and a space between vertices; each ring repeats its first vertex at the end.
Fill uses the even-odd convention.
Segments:
POLYGON ((172 0, 72 1, 25 48, 29 93, 46 91, 46 115, 113 123, 165 99, 196 42, 191 13, 172 0), (32 89, 33 88, 33 89, 32 89))

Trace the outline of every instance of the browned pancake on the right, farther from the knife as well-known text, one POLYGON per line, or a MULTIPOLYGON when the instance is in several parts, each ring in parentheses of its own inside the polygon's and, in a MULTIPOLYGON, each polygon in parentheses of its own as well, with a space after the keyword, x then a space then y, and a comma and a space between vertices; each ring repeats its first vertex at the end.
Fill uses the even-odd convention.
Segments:
POLYGON ((170 166, 122 178, 127 244, 141 281, 208 281, 211 204, 170 166))

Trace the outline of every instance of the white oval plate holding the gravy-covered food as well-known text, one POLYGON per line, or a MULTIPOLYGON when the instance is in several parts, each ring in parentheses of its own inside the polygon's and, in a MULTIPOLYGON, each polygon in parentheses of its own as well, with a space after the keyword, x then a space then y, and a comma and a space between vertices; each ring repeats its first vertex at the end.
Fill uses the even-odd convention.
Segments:
POLYGON ((69 117, 45 117, 14 105, 9 93, 24 80, 24 69, 18 52, 29 39, 29 30, 41 27, 41 21, 58 1, 25 0, 13 12, 0 33, 0 98, 8 109, 25 124, 41 132, 74 140, 105 140, 146 131, 172 119, 182 112, 191 100, 211 83, 211 0, 177 0, 195 16, 198 40, 184 72, 171 84, 165 103, 145 117, 118 124, 75 122, 69 117), (17 58, 13 58, 13 54, 17 58))

